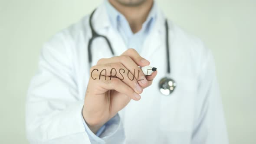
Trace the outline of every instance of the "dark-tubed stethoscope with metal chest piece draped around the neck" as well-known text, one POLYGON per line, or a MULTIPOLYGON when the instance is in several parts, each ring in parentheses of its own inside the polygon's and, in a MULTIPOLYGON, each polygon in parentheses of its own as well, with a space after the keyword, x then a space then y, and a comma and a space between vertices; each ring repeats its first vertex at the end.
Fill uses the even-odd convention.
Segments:
MULTIPOLYGON (((95 9, 96 10, 96 9, 95 9)), ((92 37, 89 39, 89 43, 88 43, 88 59, 89 59, 89 63, 90 65, 92 64, 92 41, 98 37, 101 37, 103 39, 105 39, 105 41, 108 44, 108 47, 112 53, 113 56, 115 56, 114 50, 111 46, 110 41, 108 40, 108 38, 106 36, 100 35, 98 34, 95 29, 92 26, 92 16, 95 12, 95 10, 93 10, 93 12, 91 13, 90 17, 89 17, 89 25, 90 25, 90 29, 92 31, 92 37)), ((170 55, 169 55, 169 33, 168 33, 168 23, 167 20, 165 20, 165 47, 166 47, 166 56, 167 56, 167 74, 166 75, 171 75, 171 63, 170 63, 170 55)), ((171 95, 172 92, 174 92, 174 89, 176 87, 176 82, 174 81, 174 79, 171 79, 168 76, 165 76, 164 78, 162 78, 159 81, 158 87, 159 90, 162 94, 164 95, 171 95)))

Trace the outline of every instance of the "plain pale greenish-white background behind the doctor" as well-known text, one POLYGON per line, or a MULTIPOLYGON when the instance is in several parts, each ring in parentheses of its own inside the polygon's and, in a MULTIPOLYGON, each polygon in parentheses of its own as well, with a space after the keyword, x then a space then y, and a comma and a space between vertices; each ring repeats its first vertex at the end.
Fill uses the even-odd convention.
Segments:
MULTIPOLYGON (((102 0, 0 0, 0 144, 27 144, 25 101, 39 52, 102 0)), ((256 143, 256 0, 157 0, 216 59, 230 144, 256 143)))

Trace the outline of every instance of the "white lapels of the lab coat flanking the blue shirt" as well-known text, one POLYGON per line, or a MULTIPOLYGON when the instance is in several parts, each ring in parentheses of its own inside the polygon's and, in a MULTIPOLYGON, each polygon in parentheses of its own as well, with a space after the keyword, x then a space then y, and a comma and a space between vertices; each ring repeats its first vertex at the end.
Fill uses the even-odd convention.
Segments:
MULTIPOLYGON (((156 2, 154 3, 157 4, 156 2)), ((141 56, 151 56, 156 49, 164 44, 163 39, 165 39, 165 37, 162 35, 165 36, 165 16, 157 5, 156 11, 156 22, 154 23, 148 37, 145 39, 144 46, 141 50, 141 56)), ((111 22, 108 18, 104 3, 102 3, 95 11, 94 16, 92 17, 92 24, 97 33, 102 32, 103 29, 107 31, 106 36, 111 41, 116 56, 121 55, 123 52, 125 52, 125 50, 128 49, 118 32, 116 32, 114 29, 110 29, 111 22)))

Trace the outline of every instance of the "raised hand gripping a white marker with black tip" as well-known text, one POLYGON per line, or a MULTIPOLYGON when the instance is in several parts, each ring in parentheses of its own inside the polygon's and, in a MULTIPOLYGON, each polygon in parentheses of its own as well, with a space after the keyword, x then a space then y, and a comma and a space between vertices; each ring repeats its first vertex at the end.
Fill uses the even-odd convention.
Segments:
POLYGON ((144 88, 152 84, 158 73, 155 68, 147 66, 149 64, 150 62, 142 58, 135 49, 128 49, 121 56, 99 59, 97 64, 91 67, 91 77, 85 93, 82 115, 93 133, 113 118, 131 99, 135 101, 141 99, 140 94, 144 88), (116 73, 117 78, 110 80, 93 79, 101 75, 100 72, 92 73, 95 69, 105 69, 106 76, 112 75, 111 69, 123 70, 116 73), (138 72, 138 77, 136 77, 138 79, 118 79, 122 75, 128 75, 125 69, 135 69, 138 72), (145 75, 148 75, 149 80, 145 75))

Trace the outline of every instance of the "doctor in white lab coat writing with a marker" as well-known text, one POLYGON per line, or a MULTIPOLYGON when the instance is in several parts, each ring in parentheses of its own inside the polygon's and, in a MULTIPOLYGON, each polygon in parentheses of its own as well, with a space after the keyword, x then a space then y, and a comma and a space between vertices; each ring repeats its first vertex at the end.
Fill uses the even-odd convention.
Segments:
POLYGON ((165 19, 153 0, 105 0, 53 36, 28 90, 30 143, 227 144, 211 52, 165 19), (148 80, 108 77, 146 65, 157 67, 148 80), (169 95, 166 76, 177 83, 169 95))

